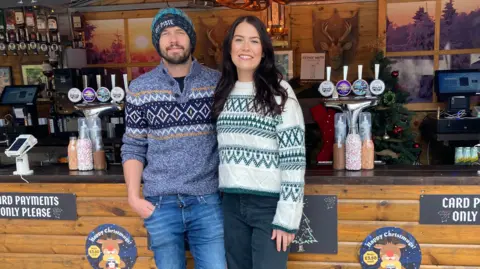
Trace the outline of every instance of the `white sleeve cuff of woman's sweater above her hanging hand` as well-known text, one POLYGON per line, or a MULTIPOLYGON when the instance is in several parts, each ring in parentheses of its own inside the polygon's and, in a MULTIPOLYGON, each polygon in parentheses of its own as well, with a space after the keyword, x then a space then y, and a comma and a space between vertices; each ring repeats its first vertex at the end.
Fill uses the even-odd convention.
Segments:
POLYGON ((297 203, 279 201, 272 225, 275 229, 296 233, 300 227, 303 213, 303 197, 297 203))

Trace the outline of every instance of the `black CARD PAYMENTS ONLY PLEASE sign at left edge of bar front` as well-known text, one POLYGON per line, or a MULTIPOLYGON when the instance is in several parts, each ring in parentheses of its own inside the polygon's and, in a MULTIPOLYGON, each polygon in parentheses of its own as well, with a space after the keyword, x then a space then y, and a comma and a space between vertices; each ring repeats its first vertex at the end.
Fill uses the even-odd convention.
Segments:
POLYGON ((0 193, 0 218, 76 220, 77 201, 66 193, 0 193))

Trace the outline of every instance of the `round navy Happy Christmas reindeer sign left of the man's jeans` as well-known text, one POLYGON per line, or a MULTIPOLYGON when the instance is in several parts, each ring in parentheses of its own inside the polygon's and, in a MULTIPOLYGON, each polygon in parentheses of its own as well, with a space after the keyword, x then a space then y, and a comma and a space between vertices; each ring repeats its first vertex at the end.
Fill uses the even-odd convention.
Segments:
POLYGON ((137 259, 133 237, 115 224, 102 224, 87 237, 87 258, 94 269, 132 269, 137 259))

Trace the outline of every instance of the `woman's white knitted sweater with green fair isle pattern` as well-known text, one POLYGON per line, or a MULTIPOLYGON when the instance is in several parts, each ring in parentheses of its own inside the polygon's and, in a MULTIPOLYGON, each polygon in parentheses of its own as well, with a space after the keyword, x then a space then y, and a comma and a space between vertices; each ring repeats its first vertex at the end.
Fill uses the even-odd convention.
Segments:
MULTIPOLYGON (((273 227, 296 233, 303 212, 305 124, 291 86, 281 115, 255 113, 253 82, 236 82, 217 121, 220 189, 279 197, 273 227)), ((277 98, 280 102, 280 98, 277 98)))

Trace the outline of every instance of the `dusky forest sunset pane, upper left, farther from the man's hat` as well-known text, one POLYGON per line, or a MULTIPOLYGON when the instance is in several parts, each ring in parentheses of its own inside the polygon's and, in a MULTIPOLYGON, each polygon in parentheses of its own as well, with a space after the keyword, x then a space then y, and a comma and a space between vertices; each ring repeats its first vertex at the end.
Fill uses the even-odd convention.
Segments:
POLYGON ((87 63, 125 63, 123 19, 86 22, 87 63))

